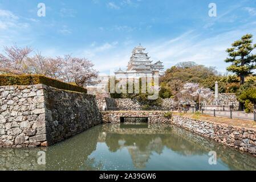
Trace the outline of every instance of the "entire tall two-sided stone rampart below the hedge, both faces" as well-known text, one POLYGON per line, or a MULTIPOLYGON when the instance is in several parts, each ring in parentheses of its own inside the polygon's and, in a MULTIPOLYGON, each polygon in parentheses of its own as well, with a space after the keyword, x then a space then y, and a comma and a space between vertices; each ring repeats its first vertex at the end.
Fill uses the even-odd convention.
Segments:
POLYGON ((0 147, 48 146, 99 124, 94 96, 43 84, 0 86, 0 147))

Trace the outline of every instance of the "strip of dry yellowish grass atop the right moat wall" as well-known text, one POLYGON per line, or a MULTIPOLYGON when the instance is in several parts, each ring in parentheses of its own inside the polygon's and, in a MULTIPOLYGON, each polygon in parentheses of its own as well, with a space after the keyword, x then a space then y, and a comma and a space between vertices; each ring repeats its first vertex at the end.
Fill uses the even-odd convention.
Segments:
POLYGON ((182 117, 188 117, 192 119, 204 120, 214 123, 224 123, 226 125, 238 126, 238 127, 245 127, 249 129, 256 130, 256 122, 251 120, 245 119, 230 119, 226 117, 214 117, 212 115, 206 115, 201 113, 177 113, 174 112, 173 115, 180 115, 182 117))

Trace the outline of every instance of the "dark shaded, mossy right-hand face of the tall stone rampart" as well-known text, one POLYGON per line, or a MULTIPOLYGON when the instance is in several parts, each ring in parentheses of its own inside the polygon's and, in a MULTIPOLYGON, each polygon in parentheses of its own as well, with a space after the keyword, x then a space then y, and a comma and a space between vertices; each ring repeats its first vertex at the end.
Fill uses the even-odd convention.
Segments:
POLYGON ((45 120, 48 144, 81 133, 102 122, 95 96, 44 88, 45 120))

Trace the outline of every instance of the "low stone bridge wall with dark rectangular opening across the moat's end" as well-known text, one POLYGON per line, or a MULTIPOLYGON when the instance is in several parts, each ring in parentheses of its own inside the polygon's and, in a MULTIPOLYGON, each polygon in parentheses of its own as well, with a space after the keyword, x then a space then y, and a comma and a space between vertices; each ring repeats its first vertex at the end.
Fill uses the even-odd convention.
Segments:
POLYGON ((104 123, 118 123, 120 117, 148 118, 148 123, 169 123, 171 118, 166 118, 166 111, 102 111, 104 123))

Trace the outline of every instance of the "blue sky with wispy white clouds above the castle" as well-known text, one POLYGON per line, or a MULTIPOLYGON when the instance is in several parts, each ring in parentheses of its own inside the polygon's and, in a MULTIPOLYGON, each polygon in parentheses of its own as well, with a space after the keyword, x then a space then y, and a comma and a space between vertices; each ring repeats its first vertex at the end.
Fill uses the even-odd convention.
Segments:
POLYGON ((165 68, 195 61, 224 73, 225 49, 246 33, 255 43, 254 0, 0 0, 0 52, 17 44, 44 56, 71 53, 101 73, 125 69, 139 43, 165 68), (45 17, 37 16, 40 2, 45 17), (216 3, 216 17, 208 15, 209 3, 216 3))

